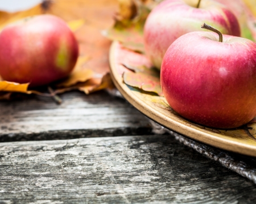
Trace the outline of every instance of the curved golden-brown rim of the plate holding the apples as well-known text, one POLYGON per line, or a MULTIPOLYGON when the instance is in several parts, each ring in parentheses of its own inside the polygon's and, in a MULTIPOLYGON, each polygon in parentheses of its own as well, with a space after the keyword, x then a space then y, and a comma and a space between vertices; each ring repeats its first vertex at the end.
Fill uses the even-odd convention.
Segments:
POLYGON ((118 91, 120 91, 123 97, 125 97, 125 99, 129 101, 131 105, 138 109, 138 111, 142 112, 145 116, 164 126, 165 128, 175 131, 178 134, 184 135, 185 137, 194 139, 199 142, 203 142, 213 147, 221 148, 222 150, 228 150, 247 156, 256 156, 256 146, 232 141, 226 138, 221 138, 217 135, 214 135, 213 133, 209 134, 202 130, 186 126, 185 124, 181 124, 177 121, 172 120, 168 116, 164 116, 163 113, 156 113, 156 110, 154 108, 146 106, 147 104, 143 103, 143 101, 139 99, 139 97, 135 96, 133 91, 131 91, 129 87, 127 87, 127 85, 123 83, 123 80, 121 80, 122 78, 117 73, 117 69, 115 69, 114 50, 118 44, 119 41, 113 41, 110 46, 110 76, 118 91))

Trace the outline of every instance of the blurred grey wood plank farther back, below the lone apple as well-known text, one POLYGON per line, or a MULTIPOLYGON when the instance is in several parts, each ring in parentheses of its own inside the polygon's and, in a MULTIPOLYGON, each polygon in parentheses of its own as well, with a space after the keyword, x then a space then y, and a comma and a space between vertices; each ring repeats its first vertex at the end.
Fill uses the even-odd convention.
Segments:
POLYGON ((123 99, 106 92, 61 95, 61 105, 49 97, 1 101, 0 142, 71 139, 99 135, 150 134, 145 117, 123 99))

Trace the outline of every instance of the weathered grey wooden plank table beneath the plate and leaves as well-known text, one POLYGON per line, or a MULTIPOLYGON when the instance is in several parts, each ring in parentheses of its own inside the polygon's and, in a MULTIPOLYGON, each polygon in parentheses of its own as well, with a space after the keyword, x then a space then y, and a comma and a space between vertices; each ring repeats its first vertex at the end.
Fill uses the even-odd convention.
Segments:
POLYGON ((0 103, 0 203, 256 203, 256 186, 155 135, 106 92, 0 103))

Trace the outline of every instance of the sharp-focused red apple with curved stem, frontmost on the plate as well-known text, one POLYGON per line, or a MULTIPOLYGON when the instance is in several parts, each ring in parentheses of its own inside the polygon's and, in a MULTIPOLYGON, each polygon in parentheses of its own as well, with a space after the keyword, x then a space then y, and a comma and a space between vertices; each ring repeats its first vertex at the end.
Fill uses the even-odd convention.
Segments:
POLYGON ((163 94, 181 116, 214 128, 236 128, 256 116, 256 44, 191 32, 172 43, 161 67, 163 94))

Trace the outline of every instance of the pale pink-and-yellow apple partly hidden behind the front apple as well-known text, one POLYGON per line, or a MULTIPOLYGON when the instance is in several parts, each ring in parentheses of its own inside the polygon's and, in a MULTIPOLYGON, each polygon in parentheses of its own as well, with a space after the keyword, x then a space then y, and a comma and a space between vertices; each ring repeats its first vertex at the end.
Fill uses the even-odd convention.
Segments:
POLYGON ((236 16, 224 5, 211 0, 166 0, 155 7, 144 25, 144 45, 147 56, 160 69, 168 47, 178 37, 200 31, 204 22, 228 35, 240 36, 236 16))

